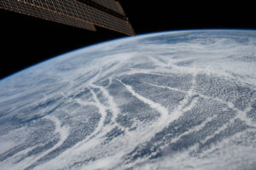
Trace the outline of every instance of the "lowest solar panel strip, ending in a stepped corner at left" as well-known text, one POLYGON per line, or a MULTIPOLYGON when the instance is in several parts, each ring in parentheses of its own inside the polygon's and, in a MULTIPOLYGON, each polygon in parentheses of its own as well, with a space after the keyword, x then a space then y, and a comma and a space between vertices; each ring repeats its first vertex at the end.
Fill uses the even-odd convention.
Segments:
POLYGON ((61 14, 51 13, 42 8, 35 8, 26 3, 18 3, 17 0, 0 1, 0 8, 5 8, 20 14, 31 15, 33 17, 41 18, 44 20, 51 20, 57 23, 65 24, 68 26, 75 26, 90 31, 96 31, 93 25, 84 22, 83 20, 74 20, 73 18, 63 16, 61 14))

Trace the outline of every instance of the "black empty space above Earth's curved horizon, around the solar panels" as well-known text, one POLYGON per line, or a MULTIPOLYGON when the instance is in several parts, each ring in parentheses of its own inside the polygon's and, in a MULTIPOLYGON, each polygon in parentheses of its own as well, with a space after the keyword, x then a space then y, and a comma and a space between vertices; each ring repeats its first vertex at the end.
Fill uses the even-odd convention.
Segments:
MULTIPOLYGON (((187 3, 170 0, 120 0, 135 32, 144 34, 205 28, 256 29, 253 3, 187 3)), ((0 79, 68 51, 123 34, 96 27, 86 31, 0 9, 0 79)))

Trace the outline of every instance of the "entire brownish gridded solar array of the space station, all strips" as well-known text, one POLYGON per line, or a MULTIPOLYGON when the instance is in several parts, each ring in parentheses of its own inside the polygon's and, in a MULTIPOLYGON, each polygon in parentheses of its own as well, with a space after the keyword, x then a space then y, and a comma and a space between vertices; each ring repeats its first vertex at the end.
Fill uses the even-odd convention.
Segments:
POLYGON ((0 8, 90 31, 101 26, 135 35, 116 0, 0 0, 0 8))

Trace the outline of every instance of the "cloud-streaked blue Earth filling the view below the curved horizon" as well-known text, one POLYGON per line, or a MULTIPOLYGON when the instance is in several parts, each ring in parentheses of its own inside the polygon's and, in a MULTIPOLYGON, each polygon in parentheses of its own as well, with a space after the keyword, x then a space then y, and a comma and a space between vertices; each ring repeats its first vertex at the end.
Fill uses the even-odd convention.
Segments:
POLYGON ((103 42, 0 89, 4 170, 256 169, 256 31, 103 42))

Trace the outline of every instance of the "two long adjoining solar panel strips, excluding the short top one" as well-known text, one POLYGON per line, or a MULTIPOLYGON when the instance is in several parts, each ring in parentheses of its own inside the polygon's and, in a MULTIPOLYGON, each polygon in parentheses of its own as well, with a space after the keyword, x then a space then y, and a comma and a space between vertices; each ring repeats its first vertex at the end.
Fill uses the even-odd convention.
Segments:
POLYGON ((91 8, 75 0, 1 0, 0 4, 5 5, 8 10, 69 26, 95 31, 93 25, 96 25, 127 35, 134 35, 128 21, 120 20, 100 9, 91 8))

